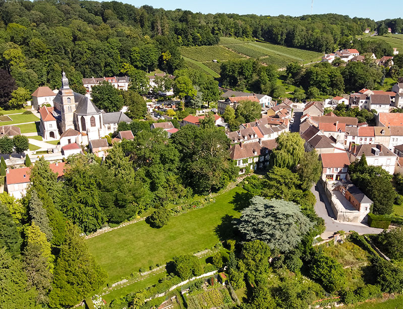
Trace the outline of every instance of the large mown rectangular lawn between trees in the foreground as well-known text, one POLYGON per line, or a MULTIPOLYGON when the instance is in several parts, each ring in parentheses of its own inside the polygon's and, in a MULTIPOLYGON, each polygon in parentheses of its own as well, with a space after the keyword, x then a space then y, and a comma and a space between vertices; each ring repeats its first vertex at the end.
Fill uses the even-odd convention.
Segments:
POLYGON ((240 216, 236 209, 245 194, 243 189, 235 188, 217 196, 212 205, 172 217, 160 229, 141 221, 89 238, 89 251, 108 273, 108 282, 115 282, 140 268, 210 249, 220 241, 215 228, 221 218, 240 216))

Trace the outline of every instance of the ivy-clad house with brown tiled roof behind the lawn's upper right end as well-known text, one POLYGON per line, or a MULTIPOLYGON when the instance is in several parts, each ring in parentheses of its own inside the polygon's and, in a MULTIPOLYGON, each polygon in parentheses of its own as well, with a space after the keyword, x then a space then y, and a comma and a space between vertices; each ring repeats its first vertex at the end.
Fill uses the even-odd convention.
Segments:
POLYGON ((239 174, 249 173, 257 168, 266 168, 271 151, 277 147, 275 140, 239 143, 231 146, 229 157, 240 168, 239 174))

